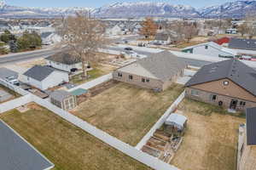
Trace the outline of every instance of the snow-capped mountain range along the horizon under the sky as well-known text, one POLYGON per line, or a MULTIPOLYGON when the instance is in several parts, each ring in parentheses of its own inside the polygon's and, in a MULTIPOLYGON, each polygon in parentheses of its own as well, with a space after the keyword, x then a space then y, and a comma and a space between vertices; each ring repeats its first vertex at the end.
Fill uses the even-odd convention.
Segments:
POLYGON ((143 16, 241 18, 250 11, 256 11, 256 0, 236 1, 205 8, 193 8, 188 5, 171 3, 113 3, 101 8, 24 8, 6 4, 0 0, 0 17, 55 17, 74 14, 80 10, 89 10, 92 15, 104 18, 127 18, 143 16))

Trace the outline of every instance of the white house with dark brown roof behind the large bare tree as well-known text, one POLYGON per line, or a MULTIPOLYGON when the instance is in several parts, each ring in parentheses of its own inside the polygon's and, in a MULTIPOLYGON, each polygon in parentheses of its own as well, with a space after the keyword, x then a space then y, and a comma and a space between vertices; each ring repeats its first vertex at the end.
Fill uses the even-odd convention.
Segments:
POLYGON ((82 69, 81 59, 73 54, 69 54, 67 52, 60 52, 57 54, 53 54, 45 59, 47 65, 58 69, 60 71, 75 71, 82 69))

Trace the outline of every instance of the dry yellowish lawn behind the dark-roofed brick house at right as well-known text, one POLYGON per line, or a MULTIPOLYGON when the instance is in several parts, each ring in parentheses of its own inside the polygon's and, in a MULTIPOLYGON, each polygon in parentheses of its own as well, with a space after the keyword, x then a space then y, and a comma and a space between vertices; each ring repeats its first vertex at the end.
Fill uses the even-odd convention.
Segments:
POLYGON ((171 164, 186 170, 234 170, 241 114, 184 99, 179 111, 188 117, 183 143, 171 164))

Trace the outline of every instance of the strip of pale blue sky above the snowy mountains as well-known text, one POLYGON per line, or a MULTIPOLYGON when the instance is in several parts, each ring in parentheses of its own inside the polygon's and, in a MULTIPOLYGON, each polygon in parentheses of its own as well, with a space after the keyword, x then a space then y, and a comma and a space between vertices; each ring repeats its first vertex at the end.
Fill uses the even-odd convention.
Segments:
MULTIPOLYGON (((139 0, 5 0, 9 5, 20 7, 101 7, 116 2, 138 2, 139 0)), ((148 0, 150 1, 150 0, 148 0)), ((211 6, 232 0, 159 0, 151 2, 166 2, 172 4, 186 4, 195 8, 211 6)), ((233 0, 234 1, 234 0, 233 0)))

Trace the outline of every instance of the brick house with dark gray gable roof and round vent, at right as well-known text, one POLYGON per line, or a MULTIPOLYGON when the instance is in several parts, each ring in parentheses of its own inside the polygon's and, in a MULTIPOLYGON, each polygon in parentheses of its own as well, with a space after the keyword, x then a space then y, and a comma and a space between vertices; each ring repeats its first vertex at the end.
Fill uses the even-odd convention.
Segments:
POLYGON ((185 87, 188 98, 230 111, 256 107, 256 71, 238 59, 203 66, 185 87))

